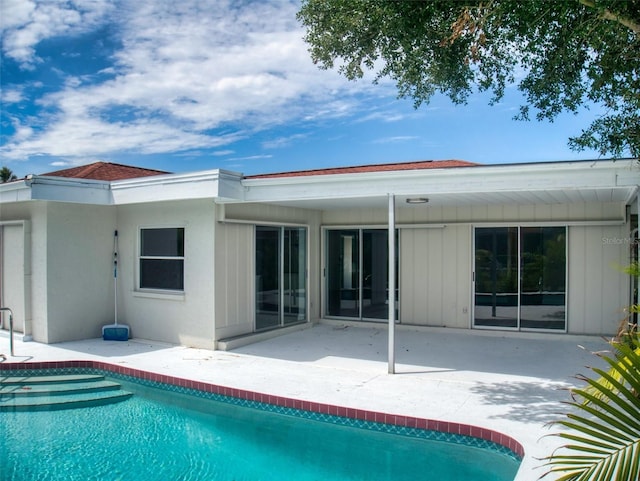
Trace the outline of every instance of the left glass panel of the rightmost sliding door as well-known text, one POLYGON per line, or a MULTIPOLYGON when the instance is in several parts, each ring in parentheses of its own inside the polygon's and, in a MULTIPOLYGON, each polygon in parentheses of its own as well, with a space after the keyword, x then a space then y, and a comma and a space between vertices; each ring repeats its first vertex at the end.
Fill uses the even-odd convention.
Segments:
POLYGON ((518 327, 518 228, 475 231, 474 325, 518 327))

